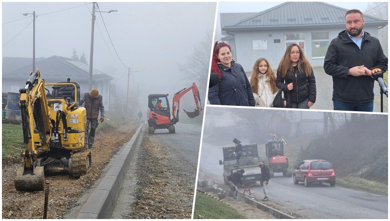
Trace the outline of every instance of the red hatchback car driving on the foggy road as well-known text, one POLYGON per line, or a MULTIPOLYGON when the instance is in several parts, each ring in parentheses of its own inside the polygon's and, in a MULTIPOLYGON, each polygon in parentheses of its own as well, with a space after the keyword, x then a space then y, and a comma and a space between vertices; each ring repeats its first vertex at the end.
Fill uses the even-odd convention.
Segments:
POLYGON ((331 163, 326 160, 304 160, 295 167, 292 175, 294 184, 304 182, 305 187, 311 183, 329 183, 331 187, 336 184, 336 174, 331 163))

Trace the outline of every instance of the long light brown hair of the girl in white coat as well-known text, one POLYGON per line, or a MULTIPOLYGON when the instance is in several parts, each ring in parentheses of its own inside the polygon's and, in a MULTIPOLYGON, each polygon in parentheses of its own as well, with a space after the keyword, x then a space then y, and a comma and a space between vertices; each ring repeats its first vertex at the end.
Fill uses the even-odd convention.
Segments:
POLYGON ((271 68, 271 65, 268 62, 268 60, 265 59, 265 58, 259 58, 259 59, 257 59, 254 62, 254 65, 253 65, 253 68, 252 68, 252 74, 251 74, 251 81, 250 81, 251 82, 252 91, 254 93, 256 93, 256 94, 258 92, 258 89, 259 89, 259 78, 258 78, 258 75, 260 74, 259 64, 262 61, 265 61, 265 63, 267 63, 267 66, 268 66, 267 72, 265 72, 265 77, 269 79, 267 84, 271 88, 271 91, 273 93, 275 93, 276 91, 279 90, 277 88, 277 86, 276 86, 276 74, 273 71, 273 69, 271 68))

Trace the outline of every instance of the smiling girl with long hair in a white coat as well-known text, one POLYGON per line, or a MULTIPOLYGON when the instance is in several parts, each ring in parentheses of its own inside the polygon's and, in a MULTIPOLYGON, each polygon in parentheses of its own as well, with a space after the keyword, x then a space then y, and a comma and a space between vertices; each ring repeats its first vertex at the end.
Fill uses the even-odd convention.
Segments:
POLYGON ((273 99, 279 91, 276 86, 276 74, 265 58, 254 63, 251 74, 251 87, 256 107, 273 107, 273 99))

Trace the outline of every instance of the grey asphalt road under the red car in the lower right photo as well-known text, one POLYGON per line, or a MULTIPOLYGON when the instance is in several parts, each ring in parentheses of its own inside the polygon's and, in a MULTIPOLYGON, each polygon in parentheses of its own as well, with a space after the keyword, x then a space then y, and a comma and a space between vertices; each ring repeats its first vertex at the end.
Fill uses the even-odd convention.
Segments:
MULTIPOLYGON (((215 174, 215 179, 222 182, 222 147, 208 143, 212 138, 203 137, 200 156, 200 170, 215 174)), ((252 197, 262 199, 263 189, 251 187, 252 197)), ((305 187, 303 183, 294 185, 291 177, 282 177, 275 173, 269 186, 269 204, 283 212, 298 215, 306 219, 387 219, 388 197, 367 192, 330 187, 329 184, 312 184, 305 187)))

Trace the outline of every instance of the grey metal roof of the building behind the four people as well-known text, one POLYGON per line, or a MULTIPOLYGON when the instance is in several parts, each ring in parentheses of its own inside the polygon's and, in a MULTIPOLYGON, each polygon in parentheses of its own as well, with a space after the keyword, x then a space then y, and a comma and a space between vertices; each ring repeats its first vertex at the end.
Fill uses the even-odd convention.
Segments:
MULTIPOLYGON (((222 27, 222 31, 270 29, 297 26, 345 25, 348 9, 324 2, 284 2, 256 15, 222 27)), ((388 21, 363 15, 366 25, 385 26, 388 21)))

